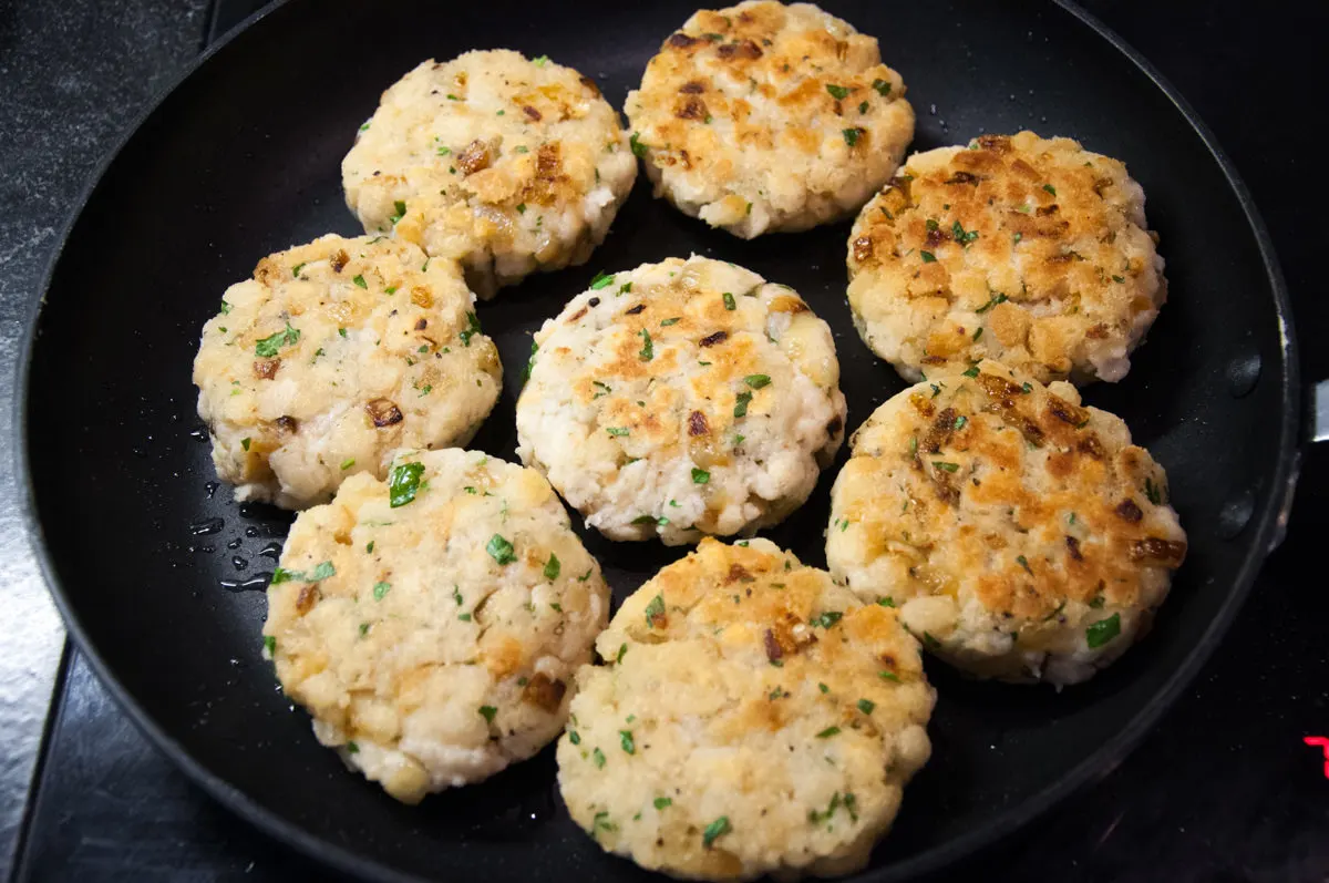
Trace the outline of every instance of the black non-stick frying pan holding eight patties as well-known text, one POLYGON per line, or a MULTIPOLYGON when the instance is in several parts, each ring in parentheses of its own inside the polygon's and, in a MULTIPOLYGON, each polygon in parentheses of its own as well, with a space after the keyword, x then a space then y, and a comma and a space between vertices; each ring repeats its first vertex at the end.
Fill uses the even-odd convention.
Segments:
MULTIPOLYGON (((942 868, 1107 773, 1195 676, 1281 537, 1298 459, 1288 301, 1247 191, 1148 65, 1049 0, 824 5, 876 35, 918 112, 913 149, 1034 128, 1120 157, 1148 193, 1171 301, 1119 384, 1086 390, 1171 477, 1189 557, 1154 632, 1082 686, 969 682, 929 662, 934 753, 863 880, 942 868)), ((262 574, 290 515, 215 484, 190 364, 203 320, 256 259, 356 233, 339 162, 379 93, 472 48, 550 55, 621 106, 688 3, 292 0, 206 53, 108 161, 66 230, 28 338, 20 475, 45 577, 133 719, 207 791, 270 834, 379 880, 645 876, 563 811, 552 750, 404 807, 340 767, 259 656, 262 574)), ((645 176, 591 263, 481 305, 506 366, 472 447, 512 459, 530 332, 618 270, 692 251, 797 289, 836 335, 849 430, 904 388, 855 334, 848 225, 742 242, 650 198, 645 176)), ((828 489, 767 532, 823 564, 828 489)), ((622 600, 683 555, 583 533, 622 600)))

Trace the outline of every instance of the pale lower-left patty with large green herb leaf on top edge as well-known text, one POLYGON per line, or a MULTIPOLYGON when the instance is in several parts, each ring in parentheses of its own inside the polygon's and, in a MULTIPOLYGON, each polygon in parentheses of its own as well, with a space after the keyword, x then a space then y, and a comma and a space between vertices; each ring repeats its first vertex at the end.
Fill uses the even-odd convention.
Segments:
POLYGON ((609 588, 536 472, 460 449, 396 463, 412 500, 360 473, 296 517, 263 634, 319 741, 415 803, 554 739, 609 588))

